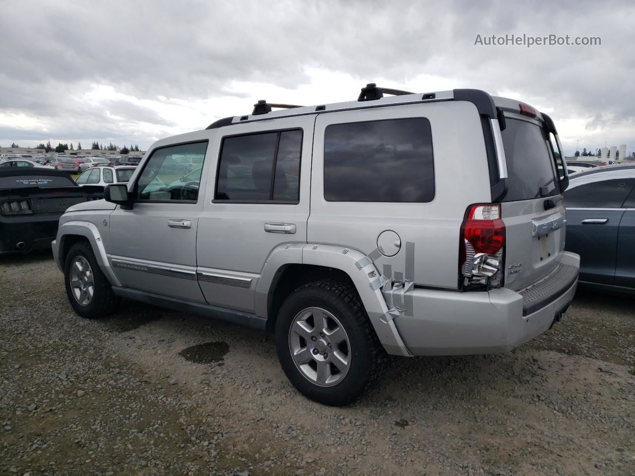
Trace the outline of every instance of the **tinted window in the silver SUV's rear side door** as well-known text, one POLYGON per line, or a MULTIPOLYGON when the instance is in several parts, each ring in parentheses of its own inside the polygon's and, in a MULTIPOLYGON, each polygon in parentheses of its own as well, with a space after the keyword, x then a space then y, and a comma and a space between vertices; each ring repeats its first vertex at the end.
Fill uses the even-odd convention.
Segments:
POLYGON ((216 200, 300 200, 302 131, 225 137, 218 162, 216 200))

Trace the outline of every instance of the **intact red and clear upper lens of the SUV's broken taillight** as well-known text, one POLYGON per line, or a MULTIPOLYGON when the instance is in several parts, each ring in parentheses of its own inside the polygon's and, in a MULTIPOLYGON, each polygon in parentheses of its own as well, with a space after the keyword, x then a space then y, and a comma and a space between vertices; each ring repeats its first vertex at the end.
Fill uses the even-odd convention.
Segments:
POLYGON ((475 253, 495 255, 505 244, 505 223, 500 219, 499 204, 473 205, 463 221, 463 239, 475 253))

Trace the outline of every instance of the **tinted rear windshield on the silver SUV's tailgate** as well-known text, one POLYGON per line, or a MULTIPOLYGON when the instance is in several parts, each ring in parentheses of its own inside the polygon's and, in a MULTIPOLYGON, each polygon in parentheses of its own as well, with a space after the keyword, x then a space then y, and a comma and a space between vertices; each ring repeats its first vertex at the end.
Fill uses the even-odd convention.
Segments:
POLYGON ((502 131, 509 188, 505 202, 559 194, 556 169, 544 129, 521 119, 505 118, 502 131))

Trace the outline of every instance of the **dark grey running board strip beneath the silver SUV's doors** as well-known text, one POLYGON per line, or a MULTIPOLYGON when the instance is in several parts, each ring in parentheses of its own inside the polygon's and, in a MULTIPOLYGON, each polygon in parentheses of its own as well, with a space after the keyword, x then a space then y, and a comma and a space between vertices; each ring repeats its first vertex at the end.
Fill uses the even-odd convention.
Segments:
POLYGON ((209 304, 195 303, 184 299, 170 298, 168 296, 161 296, 161 294, 139 291, 138 289, 112 286, 112 292, 121 298, 140 301, 153 306, 166 307, 180 312, 199 314, 204 317, 217 319, 218 321, 230 322, 231 324, 251 327, 252 329, 258 329, 260 331, 264 331, 267 327, 266 317, 260 317, 255 314, 250 314, 249 312, 237 311, 235 309, 212 306, 209 304))

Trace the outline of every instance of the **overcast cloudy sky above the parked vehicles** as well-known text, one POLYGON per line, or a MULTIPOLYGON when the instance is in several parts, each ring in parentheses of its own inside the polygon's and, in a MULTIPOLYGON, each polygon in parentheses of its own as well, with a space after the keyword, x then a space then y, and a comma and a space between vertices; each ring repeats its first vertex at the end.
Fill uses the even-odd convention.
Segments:
POLYGON ((0 146, 142 149, 258 99, 353 100, 369 82, 485 89, 552 116, 566 155, 635 150, 635 6, 626 2, 0 0, 0 146), (601 37, 483 46, 481 37, 601 37))

